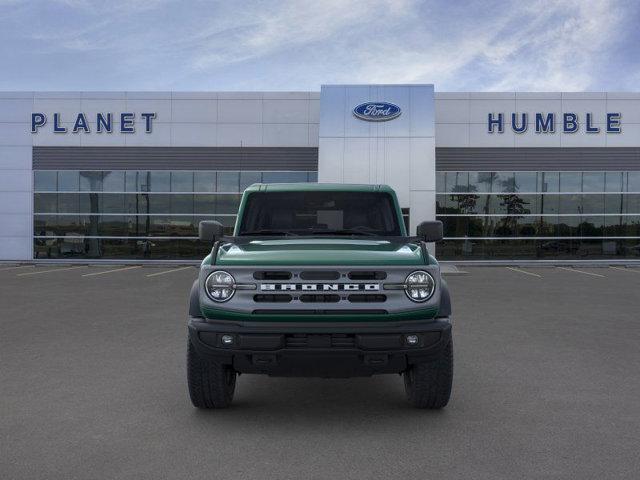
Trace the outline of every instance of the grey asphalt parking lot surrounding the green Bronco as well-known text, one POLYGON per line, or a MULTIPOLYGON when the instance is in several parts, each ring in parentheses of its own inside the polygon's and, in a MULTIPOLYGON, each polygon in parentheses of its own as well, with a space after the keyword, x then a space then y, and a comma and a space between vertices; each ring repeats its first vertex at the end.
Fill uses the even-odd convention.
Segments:
POLYGON ((401 378, 185 376, 194 267, 0 265, 0 478, 638 478, 640 268, 450 275, 442 411, 401 378))

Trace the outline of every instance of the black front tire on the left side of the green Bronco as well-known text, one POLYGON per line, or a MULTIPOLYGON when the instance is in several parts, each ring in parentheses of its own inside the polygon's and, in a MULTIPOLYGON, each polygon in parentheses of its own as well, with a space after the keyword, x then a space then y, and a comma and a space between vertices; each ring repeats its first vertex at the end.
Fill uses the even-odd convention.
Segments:
POLYGON ((205 360, 188 342, 187 383, 194 407, 226 408, 233 400, 237 374, 229 365, 205 360))

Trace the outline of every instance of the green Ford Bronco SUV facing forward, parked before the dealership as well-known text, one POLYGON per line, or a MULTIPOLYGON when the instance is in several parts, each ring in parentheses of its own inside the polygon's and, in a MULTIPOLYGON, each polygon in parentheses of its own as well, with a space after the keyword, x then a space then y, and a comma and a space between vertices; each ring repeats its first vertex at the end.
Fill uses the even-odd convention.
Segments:
POLYGON ((242 373, 398 373, 416 407, 447 404, 451 302, 427 251, 441 222, 408 236, 385 185, 256 184, 233 236, 213 221, 199 234, 213 248, 189 304, 196 407, 228 406, 242 373))

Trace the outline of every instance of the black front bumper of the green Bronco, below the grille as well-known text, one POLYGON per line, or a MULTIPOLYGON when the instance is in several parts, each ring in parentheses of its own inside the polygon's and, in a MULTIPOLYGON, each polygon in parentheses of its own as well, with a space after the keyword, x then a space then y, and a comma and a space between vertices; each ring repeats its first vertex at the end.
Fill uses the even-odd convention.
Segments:
POLYGON ((189 318, 189 338, 201 357, 240 373, 355 377, 399 373, 429 361, 451 340, 449 318, 412 322, 229 322, 189 318), (231 345, 222 342, 230 335, 231 345), (407 335, 417 335, 409 345, 407 335))

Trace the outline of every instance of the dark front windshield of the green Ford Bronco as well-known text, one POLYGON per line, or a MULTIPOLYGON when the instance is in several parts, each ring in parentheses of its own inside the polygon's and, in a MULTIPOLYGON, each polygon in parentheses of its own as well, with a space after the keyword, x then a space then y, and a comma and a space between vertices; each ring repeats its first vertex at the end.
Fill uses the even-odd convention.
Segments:
POLYGON ((249 195, 238 235, 399 236, 384 192, 257 192, 249 195))

